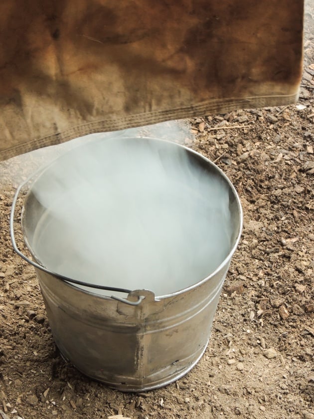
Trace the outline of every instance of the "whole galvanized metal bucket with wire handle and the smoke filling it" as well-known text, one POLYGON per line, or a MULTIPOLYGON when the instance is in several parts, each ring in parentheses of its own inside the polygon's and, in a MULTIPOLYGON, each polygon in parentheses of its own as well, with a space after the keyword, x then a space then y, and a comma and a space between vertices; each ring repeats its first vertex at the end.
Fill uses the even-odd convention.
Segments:
POLYGON ((206 349, 242 229, 224 173, 157 139, 81 145, 31 180, 21 222, 33 260, 13 232, 23 185, 13 247, 35 266, 63 356, 122 391, 186 374, 206 349))

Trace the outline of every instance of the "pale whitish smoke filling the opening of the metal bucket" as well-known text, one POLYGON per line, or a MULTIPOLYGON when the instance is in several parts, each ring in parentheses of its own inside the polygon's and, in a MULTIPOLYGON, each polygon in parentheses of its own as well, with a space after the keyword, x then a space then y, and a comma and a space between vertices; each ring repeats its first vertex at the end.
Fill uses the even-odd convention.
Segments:
POLYGON ((43 208, 31 251, 76 280, 171 294, 210 275, 233 245, 226 179, 173 143, 90 142, 50 165, 31 193, 43 208))

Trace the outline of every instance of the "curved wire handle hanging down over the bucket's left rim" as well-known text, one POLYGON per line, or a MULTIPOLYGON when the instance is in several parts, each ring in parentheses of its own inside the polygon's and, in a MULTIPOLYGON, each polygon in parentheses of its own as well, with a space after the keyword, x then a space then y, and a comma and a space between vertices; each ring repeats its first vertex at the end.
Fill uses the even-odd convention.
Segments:
MULTIPOLYGON (((15 251, 15 253, 17 253, 22 259, 24 259, 26 262, 28 262, 30 265, 34 266, 35 268, 40 269, 43 272, 46 272, 50 275, 56 276, 57 278, 61 279, 64 282, 70 282, 72 284, 77 284, 77 285, 83 285, 83 286, 89 287, 89 288, 104 289, 104 290, 107 290, 107 291, 125 292, 127 294, 130 294, 130 292, 132 292, 132 290, 130 290, 130 289, 108 287, 108 286, 105 286, 105 285, 89 284, 87 282, 78 281, 76 279, 72 279, 72 278, 68 278, 67 276, 60 275, 59 273, 52 272, 51 270, 45 268, 44 266, 40 265, 39 263, 34 262, 33 260, 29 259, 24 253, 22 253, 18 249, 18 247, 16 245, 16 241, 15 241, 15 235, 14 235, 14 214, 15 214, 17 198, 18 198, 18 195, 19 195, 21 189, 34 177, 34 175, 36 175, 41 170, 42 170, 41 168, 38 169, 35 173, 33 173, 31 176, 29 176, 24 182, 22 182, 17 187, 16 192, 15 192, 14 197, 13 197, 12 207, 11 207, 11 212, 10 212, 10 237, 11 237, 11 241, 12 241, 13 250, 15 251)), ((141 304, 141 302, 144 300, 145 296, 139 295, 137 301, 129 301, 126 298, 116 297, 115 295, 111 295, 110 298, 112 298, 113 300, 121 301, 125 304, 137 306, 137 305, 141 304)))

